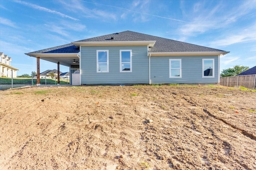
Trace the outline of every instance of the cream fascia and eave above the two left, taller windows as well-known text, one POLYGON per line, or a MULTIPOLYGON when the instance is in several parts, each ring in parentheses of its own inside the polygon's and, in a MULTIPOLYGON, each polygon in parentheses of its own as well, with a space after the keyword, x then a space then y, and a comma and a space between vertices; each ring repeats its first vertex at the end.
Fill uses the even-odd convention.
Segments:
POLYGON ((148 45, 153 47, 156 41, 81 41, 71 42, 72 44, 79 46, 125 46, 125 45, 148 45))

